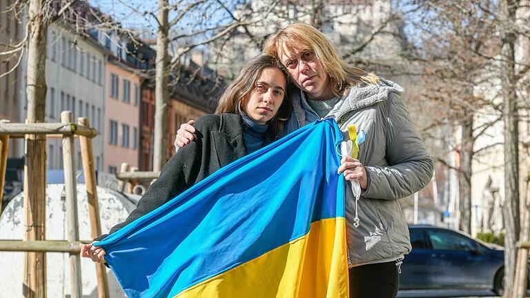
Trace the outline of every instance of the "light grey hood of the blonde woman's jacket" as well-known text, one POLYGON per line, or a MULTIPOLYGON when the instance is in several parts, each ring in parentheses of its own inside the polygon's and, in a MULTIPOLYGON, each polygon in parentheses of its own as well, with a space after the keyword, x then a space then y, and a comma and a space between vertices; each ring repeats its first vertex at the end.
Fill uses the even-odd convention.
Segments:
POLYGON ((389 98, 389 93, 394 92, 398 95, 405 90, 402 86, 393 81, 380 78, 381 82, 377 85, 365 84, 360 87, 350 88, 348 95, 341 99, 342 103, 337 115, 343 115, 351 110, 358 110, 366 108, 379 101, 384 101, 389 98))

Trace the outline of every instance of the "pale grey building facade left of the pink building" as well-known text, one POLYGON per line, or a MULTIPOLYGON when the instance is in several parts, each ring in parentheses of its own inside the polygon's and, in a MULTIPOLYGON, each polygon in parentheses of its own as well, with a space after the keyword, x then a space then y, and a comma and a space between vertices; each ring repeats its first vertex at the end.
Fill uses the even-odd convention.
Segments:
MULTIPOLYGON (((87 117, 99 135, 92 139, 96 170, 103 170, 105 139, 105 68, 110 53, 90 37, 80 37, 63 23, 48 26, 46 49, 46 122, 60 122, 61 111, 70 110, 77 117, 87 117)), ((27 97, 21 118, 27 110, 27 97)), ((60 139, 48 139, 48 170, 63 168, 60 139)), ((76 168, 81 170, 81 152, 76 142, 76 168)))

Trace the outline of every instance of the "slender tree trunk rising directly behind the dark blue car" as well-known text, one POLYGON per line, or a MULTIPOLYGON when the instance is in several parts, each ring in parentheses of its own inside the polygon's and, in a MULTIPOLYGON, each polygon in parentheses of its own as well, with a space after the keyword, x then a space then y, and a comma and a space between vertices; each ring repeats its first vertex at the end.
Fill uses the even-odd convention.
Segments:
POLYGON ((473 163, 473 113, 468 113, 460 122, 462 126, 462 148, 460 171, 458 172, 458 195, 460 221, 458 228, 471 234, 471 165, 473 163))

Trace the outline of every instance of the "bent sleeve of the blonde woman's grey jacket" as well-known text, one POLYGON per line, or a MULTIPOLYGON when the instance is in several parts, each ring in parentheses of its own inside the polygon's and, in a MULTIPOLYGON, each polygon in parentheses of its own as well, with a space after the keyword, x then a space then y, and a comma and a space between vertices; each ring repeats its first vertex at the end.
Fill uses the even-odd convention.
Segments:
POLYGON ((399 95, 389 94, 386 115, 386 161, 365 166, 368 187, 362 197, 400 199, 424 188, 433 177, 433 160, 412 124, 399 95))

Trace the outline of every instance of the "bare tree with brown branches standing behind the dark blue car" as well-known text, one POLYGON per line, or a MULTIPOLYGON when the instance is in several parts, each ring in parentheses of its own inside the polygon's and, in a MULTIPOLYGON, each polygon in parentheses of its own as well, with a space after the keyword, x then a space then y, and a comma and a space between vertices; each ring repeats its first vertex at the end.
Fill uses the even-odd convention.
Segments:
MULTIPOLYGON (((487 148, 474 150, 475 141, 499 120, 481 117, 480 110, 489 108, 499 112, 495 106, 495 96, 477 95, 476 86, 491 80, 493 72, 490 59, 476 52, 498 50, 498 39, 492 38, 496 27, 484 21, 481 10, 473 3, 413 1, 415 13, 409 21, 415 26, 420 44, 409 52, 408 59, 418 61, 423 66, 424 81, 422 97, 436 102, 437 112, 444 110, 443 117, 436 117, 438 125, 458 123, 462 134, 460 146, 455 148, 460 155, 458 171, 459 189, 459 228, 471 233, 471 174, 473 157, 487 148), (422 17, 417 18, 418 14, 422 17), (481 119, 482 118, 482 119, 481 119), (482 124, 478 124, 480 120, 482 124)), ((444 159, 439 159, 452 167, 444 159)))

